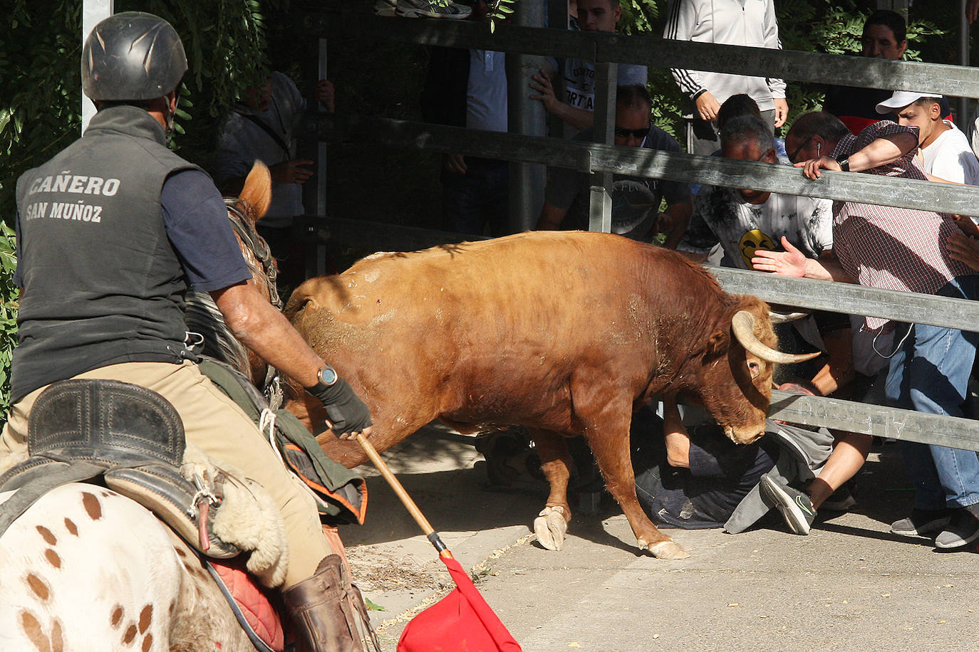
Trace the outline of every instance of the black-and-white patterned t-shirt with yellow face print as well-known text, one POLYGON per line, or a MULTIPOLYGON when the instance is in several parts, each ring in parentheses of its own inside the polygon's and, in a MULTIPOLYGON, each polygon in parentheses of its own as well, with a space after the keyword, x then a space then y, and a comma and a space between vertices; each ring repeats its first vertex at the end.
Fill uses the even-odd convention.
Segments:
POLYGON ((833 202, 771 193, 765 203, 745 201, 736 190, 705 186, 693 201, 690 226, 678 249, 710 252, 721 242, 733 266, 750 270, 756 249, 781 251, 782 236, 807 258, 833 246, 833 202))

